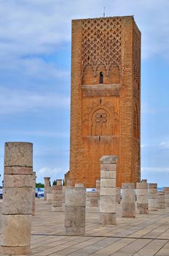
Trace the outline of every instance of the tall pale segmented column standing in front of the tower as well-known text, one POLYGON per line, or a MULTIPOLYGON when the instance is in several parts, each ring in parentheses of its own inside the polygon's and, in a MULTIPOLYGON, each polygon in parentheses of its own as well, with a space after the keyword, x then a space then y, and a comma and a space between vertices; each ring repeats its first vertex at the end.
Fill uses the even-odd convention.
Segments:
POLYGON ((103 156, 101 161, 100 224, 116 224, 117 157, 103 156))

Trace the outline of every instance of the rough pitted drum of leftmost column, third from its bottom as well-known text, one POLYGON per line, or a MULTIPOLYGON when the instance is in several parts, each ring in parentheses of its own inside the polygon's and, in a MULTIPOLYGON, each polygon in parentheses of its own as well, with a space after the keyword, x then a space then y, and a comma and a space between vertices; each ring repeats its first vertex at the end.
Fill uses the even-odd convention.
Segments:
POLYGON ((2 214, 31 214, 32 188, 4 188, 2 214))

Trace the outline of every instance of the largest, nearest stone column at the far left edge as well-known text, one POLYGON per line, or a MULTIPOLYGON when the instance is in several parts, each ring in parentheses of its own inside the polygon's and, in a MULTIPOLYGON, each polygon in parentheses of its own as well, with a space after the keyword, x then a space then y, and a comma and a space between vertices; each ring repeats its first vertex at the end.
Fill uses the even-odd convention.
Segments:
POLYGON ((1 254, 30 252, 33 144, 5 143, 1 254))

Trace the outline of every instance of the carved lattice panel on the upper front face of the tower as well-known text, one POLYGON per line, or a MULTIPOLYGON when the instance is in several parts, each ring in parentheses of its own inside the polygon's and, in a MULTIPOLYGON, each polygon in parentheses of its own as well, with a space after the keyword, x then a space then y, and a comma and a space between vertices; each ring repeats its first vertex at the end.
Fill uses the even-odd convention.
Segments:
POLYGON ((82 20, 82 74, 88 65, 95 72, 99 65, 106 68, 121 64, 121 18, 82 20))

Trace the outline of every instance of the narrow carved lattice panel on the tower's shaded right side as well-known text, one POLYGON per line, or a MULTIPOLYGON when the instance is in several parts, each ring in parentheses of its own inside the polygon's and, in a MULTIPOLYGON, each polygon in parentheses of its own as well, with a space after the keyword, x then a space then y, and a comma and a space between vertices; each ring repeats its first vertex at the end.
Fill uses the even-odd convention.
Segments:
POLYGON ((141 75, 141 38, 138 27, 134 23, 133 31, 133 76, 138 89, 140 89, 141 75))

